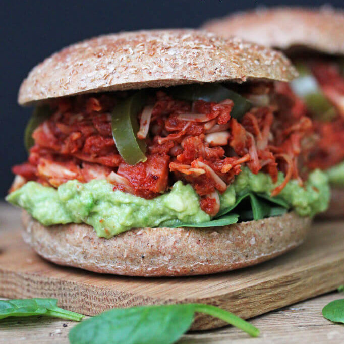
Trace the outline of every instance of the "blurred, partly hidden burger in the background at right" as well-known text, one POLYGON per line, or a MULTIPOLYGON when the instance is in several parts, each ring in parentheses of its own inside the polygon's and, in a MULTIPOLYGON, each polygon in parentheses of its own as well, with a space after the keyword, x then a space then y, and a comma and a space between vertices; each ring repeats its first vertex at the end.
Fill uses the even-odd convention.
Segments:
POLYGON ((332 199, 323 217, 344 216, 344 12, 271 8, 236 13, 204 25, 224 37, 238 35, 282 50, 299 78, 276 87, 295 98, 295 110, 313 119, 313 151, 305 164, 329 178, 332 199))

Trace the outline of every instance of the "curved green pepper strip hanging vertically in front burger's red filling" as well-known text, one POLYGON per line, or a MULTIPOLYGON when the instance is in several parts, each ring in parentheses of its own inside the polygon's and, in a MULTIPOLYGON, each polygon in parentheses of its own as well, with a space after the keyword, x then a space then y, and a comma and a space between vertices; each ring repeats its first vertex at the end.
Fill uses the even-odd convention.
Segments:
POLYGON ((120 155, 130 165, 147 160, 146 143, 136 137, 139 130, 137 115, 145 105, 147 98, 146 91, 139 91, 121 101, 112 110, 112 137, 120 155))

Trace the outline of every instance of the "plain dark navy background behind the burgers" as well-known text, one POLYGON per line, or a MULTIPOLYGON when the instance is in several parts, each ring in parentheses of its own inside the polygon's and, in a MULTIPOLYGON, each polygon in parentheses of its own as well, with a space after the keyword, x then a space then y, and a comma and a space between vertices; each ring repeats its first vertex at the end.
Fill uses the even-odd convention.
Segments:
MULTIPOLYGON (((169 27, 197 27, 212 17, 257 6, 320 6, 323 1, 259 0, 45 0, 1 1, 0 200, 11 166, 26 159, 23 131, 32 112, 17 105, 20 83, 37 63, 67 44, 95 35, 169 27)), ((342 7, 343 0, 326 2, 342 7)))

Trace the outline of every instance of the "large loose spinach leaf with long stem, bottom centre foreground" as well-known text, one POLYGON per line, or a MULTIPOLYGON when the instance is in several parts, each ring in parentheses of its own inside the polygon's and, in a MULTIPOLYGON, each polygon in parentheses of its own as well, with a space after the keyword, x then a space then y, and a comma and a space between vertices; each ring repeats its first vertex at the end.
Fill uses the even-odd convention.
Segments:
POLYGON ((259 330, 230 312, 202 304, 111 309, 87 319, 69 332, 72 344, 171 344, 191 326, 195 312, 226 321, 258 336, 259 330))

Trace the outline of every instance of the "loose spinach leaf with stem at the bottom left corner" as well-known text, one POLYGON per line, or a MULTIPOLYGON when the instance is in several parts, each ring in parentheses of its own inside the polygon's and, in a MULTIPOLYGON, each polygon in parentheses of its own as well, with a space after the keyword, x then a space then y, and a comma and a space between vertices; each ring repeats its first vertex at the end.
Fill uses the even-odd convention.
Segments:
POLYGON ((83 315, 58 307, 56 299, 13 299, 0 300, 0 319, 32 315, 47 315, 80 321, 83 315))

